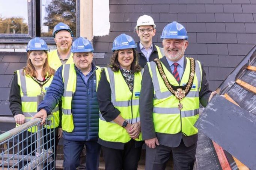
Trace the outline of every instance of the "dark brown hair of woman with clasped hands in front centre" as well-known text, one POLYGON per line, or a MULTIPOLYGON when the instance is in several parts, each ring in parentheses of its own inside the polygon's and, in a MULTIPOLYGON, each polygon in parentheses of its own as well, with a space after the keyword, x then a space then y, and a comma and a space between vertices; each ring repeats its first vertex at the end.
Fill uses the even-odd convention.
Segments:
MULTIPOLYGON (((113 55, 110 58, 110 64, 109 67, 112 71, 118 71, 119 70, 119 62, 117 60, 119 50, 115 50, 113 55)), ((136 50, 133 49, 133 62, 131 63, 131 71, 133 72, 139 72, 142 68, 139 65, 139 57, 136 50)))

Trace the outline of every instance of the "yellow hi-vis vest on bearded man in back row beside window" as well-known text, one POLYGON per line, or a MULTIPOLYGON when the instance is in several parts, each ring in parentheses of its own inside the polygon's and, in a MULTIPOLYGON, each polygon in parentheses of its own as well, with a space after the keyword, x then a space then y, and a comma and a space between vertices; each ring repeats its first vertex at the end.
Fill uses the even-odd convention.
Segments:
MULTIPOLYGON (((62 63, 60 61, 60 58, 58 56, 57 50, 53 50, 48 53, 48 62, 51 68, 57 70, 60 66, 62 66, 62 63)), ((72 64, 73 62, 73 53, 70 54, 68 61, 66 64, 72 64)))

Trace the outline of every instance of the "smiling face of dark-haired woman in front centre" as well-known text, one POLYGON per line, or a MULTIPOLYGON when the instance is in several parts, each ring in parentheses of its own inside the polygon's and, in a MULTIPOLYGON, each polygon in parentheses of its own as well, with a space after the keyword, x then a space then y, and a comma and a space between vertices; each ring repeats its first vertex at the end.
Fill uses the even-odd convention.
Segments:
POLYGON ((117 61, 120 67, 130 70, 133 62, 133 49, 123 49, 118 51, 117 61))

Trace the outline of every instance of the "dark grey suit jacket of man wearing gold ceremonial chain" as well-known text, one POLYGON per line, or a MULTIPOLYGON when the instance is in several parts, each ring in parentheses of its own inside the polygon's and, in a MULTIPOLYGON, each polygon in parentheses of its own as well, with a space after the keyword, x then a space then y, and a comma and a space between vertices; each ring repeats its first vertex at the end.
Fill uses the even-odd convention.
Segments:
MULTIPOLYGON (((166 57, 164 56, 161 59, 163 65, 168 68, 172 73, 170 66, 167 62, 166 57)), ((187 61, 184 59, 184 69, 186 68, 187 61)), ((202 65, 203 68, 203 65, 202 65)), ((202 84, 201 90, 199 92, 199 100, 203 106, 207 105, 211 91, 209 90, 209 84, 206 80, 205 71, 202 71, 202 84)), ((153 100, 154 100, 154 87, 152 83, 152 78, 149 74, 148 65, 144 68, 144 73, 142 77, 142 87, 140 91, 140 122, 142 129, 143 139, 152 139, 154 137, 158 138, 158 141, 161 145, 169 147, 177 147, 183 139, 184 144, 188 147, 197 142, 197 134, 193 136, 185 136, 182 132, 179 132, 175 135, 165 134, 165 133, 156 133, 153 123, 153 100)))

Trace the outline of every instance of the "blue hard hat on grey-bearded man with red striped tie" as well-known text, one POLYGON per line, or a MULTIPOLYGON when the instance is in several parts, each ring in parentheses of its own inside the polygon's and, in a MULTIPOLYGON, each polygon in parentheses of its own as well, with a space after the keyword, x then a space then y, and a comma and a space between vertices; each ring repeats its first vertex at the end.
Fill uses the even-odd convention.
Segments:
POLYGON ((188 39, 185 27, 176 21, 167 24, 162 32, 161 39, 188 39))

